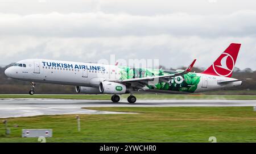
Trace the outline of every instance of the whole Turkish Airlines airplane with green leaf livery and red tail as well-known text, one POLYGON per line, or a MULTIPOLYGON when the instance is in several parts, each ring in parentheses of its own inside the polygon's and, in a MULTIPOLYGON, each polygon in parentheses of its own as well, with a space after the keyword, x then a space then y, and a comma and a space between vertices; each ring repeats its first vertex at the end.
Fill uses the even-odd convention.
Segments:
POLYGON ((77 93, 112 94, 112 102, 120 101, 120 94, 130 93, 129 103, 137 98, 133 91, 185 94, 218 90, 242 85, 247 79, 232 78, 241 44, 231 43, 208 69, 191 72, 195 60, 187 69, 163 70, 131 66, 77 63, 46 59, 18 61, 5 70, 7 77, 29 81, 35 93, 35 82, 73 85, 77 93))

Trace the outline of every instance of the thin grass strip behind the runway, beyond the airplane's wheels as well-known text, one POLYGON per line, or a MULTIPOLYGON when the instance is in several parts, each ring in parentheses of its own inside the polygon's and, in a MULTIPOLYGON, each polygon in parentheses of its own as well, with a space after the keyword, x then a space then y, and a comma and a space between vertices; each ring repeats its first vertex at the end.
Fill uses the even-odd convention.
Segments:
MULTIPOLYGON (((207 95, 207 94, 134 94, 137 99, 256 99, 256 95, 207 95)), ((129 94, 121 95, 126 99, 129 94)), ((87 94, 0 94, 3 98, 56 98, 56 99, 97 99, 110 100, 111 95, 87 94)))

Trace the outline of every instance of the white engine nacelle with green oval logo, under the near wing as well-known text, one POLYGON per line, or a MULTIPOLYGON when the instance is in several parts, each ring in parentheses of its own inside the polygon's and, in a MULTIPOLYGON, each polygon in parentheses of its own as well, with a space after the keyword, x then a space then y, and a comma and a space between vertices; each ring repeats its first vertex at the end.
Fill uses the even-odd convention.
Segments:
POLYGON ((129 93, 126 85, 116 82, 103 81, 100 83, 99 90, 102 94, 125 94, 129 93))

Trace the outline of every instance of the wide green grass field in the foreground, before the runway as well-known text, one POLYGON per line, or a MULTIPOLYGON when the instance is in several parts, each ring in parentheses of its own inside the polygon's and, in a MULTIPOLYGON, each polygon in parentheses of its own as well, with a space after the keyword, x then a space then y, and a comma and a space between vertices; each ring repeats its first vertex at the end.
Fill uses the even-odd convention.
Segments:
POLYGON ((9 118, 11 135, 0 142, 37 142, 20 138, 23 128, 52 128, 47 142, 255 142, 256 112, 253 107, 91 107, 93 110, 139 114, 80 115, 81 132, 75 115, 43 115, 9 118), (18 124, 19 127, 13 127, 18 124))

